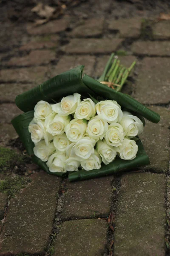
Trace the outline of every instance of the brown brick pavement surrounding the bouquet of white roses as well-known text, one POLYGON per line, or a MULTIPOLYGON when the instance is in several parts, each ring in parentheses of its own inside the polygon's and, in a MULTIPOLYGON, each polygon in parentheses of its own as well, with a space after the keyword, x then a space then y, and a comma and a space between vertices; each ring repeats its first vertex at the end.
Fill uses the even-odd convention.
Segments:
POLYGON ((10 50, 0 52, 0 146, 15 150, 18 159, 25 154, 10 123, 21 113, 17 94, 79 64, 98 78, 116 52, 122 64, 137 62, 123 92, 161 115, 157 125, 146 122, 141 136, 150 165, 69 183, 28 158, 25 165, 14 163, 2 148, 1 182, 20 174, 31 180, 13 197, 0 185, 0 255, 170 255, 170 21, 152 19, 148 36, 144 17, 115 19, 100 4, 102 16, 77 21, 66 15, 38 27, 24 23, 22 37, 12 34, 10 50))

